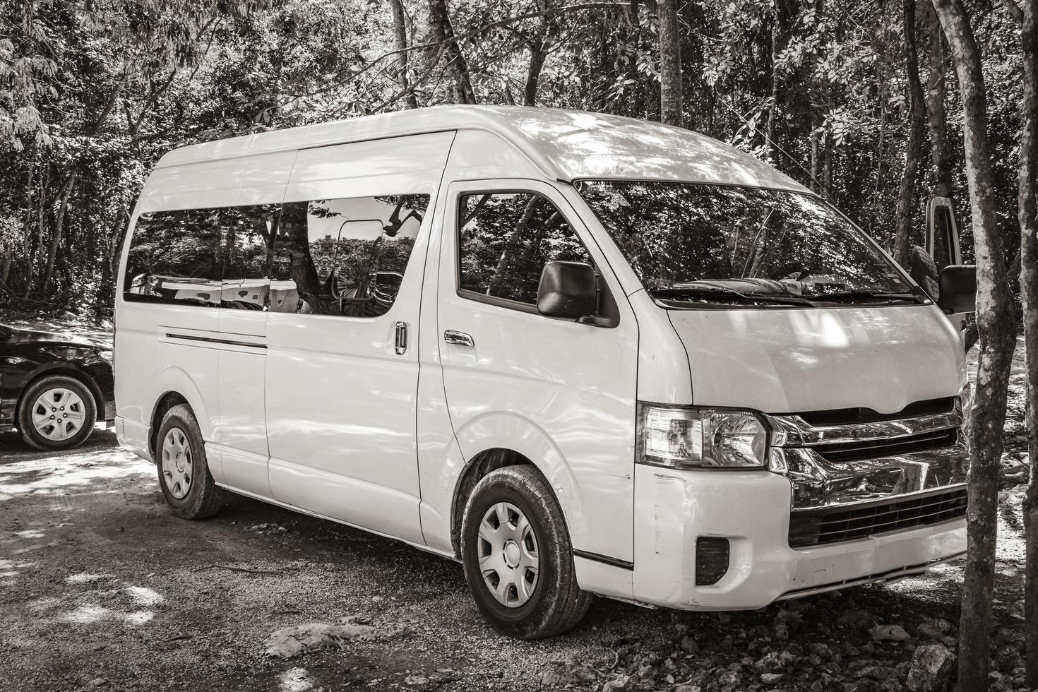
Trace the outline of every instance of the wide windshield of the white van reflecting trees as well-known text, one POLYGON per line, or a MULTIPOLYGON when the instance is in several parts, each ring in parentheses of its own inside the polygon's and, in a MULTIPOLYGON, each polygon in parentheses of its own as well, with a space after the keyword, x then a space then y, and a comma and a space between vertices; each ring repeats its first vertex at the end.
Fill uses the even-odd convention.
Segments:
POLYGON ((922 302, 862 231, 812 195, 640 181, 575 186, 664 304, 922 302))

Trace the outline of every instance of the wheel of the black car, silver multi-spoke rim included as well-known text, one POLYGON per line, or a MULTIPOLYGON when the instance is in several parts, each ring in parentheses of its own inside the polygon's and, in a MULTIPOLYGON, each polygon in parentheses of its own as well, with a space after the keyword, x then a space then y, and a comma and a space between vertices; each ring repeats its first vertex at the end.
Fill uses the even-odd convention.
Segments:
POLYGON ((22 439, 45 451, 78 447, 93 433, 97 420, 93 394, 65 375, 48 375, 30 384, 18 407, 22 439))

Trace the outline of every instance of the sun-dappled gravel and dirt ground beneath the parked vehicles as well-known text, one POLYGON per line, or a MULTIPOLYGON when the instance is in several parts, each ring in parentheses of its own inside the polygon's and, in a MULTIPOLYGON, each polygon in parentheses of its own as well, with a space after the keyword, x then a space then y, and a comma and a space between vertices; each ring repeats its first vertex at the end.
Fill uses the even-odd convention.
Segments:
MULTIPOLYGON (((1014 555, 1001 563, 1006 609, 1019 598, 1014 555)), ((953 634, 960 576, 946 566, 732 615, 600 599, 571 634, 520 642, 484 625, 447 560, 241 497, 215 519, 179 520, 154 467, 110 432, 63 454, 0 436, 3 690, 601 689, 625 672, 641 689, 758 689, 755 661, 772 652, 789 656, 768 688, 843 690, 871 681, 869 665, 903 680, 927 618, 950 620, 953 634), (289 660, 264 655, 274 630, 356 615, 410 632, 289 660), (892 622, 912 639, 872 640, 868 627, 892 622)))

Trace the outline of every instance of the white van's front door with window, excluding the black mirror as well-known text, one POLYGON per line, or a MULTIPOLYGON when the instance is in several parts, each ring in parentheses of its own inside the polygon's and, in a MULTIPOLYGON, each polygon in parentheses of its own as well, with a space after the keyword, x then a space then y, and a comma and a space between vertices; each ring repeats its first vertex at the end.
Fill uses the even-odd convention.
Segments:
POLYGON ((638 330, 604 255, 559 191, 535 181, 449 187, 436 336, 447 410, 470 462, 503 447, 536 464, 574 549, 633 556, 638 330), (537 311, 544 265, 600 274, 598 325, 537 311))

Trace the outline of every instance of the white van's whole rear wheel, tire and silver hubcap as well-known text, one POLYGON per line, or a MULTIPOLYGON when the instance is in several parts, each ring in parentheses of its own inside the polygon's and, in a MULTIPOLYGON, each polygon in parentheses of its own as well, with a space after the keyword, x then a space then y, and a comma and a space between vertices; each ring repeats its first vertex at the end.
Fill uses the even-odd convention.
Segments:
POLYGON ((183 519, 208 519, 223 507, 226 491, 209 472, 206 443, 198 421, 185 404, 162 418, 155 445, 155 465, 166 504, 183 519))

